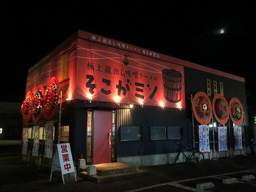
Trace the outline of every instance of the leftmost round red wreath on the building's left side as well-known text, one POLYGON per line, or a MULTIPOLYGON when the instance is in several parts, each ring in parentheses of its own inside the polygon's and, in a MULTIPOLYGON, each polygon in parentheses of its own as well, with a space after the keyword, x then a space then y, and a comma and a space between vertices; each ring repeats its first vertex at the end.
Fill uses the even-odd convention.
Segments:
POLYGON ((25 100, 22 103, 21 106, 21 114, 23 118, 23 124, 28 124, 30 117, 31 117, 31 105, 32 105, 32 93, 28 92, 26 95, 25 100))

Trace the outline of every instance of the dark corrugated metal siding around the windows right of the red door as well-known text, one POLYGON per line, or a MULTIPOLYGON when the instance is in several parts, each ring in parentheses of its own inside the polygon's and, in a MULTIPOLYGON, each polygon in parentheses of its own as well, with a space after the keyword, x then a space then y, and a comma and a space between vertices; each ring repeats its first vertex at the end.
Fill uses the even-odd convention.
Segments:
POLYGON ((116 145, 116 156, 140 156, 149 154, 161 154, 174 152, 177 150, 176 140, 156 140, 150 141, 150 126, 170 126, 180 125, 182 127, 183 138, 187 141, 188 121, 186 119, 186 110, 179 111, 173 108, 164 108, 152 106, 134 106, 130 109, 119 109, 117 111, 116 127, 118 129, 118 138, 116 145), (131 124, 132 123, 132 124, 131 124), (120 141, 120 125, 141 126, 142 141, 120 141))

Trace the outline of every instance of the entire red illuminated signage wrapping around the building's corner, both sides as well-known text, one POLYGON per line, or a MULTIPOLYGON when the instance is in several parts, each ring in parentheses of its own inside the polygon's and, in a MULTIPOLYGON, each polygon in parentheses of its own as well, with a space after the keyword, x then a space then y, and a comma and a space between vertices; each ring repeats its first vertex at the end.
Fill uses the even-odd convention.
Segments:
POLYGON ((32 70, 27 92, 35 93, 39 84, 46 86, 53 76, 68 101, 186 108, 182 65, 161 60, 156 52, 96 35, 91 41, 77 38, 32 70))

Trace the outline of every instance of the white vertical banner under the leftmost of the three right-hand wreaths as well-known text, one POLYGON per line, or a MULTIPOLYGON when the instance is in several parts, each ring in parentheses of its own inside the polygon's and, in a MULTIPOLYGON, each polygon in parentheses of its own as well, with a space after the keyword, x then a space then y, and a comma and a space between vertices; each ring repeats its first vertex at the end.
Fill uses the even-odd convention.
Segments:
POLYGON ((210 152, 209 125, 199 125, 198 134, 200 152, 210 152))

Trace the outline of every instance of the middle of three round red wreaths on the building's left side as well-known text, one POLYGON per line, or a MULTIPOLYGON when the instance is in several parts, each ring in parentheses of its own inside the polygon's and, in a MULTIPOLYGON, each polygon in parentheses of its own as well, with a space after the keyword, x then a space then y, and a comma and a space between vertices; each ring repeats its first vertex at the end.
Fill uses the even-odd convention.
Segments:
POLYGON ((33 122, 38 122, 43 108, 43 97, 44 97, 44 88, 42 85, 38 86, 36 93, 33 95, 32 98, 32 118, 33 122))

